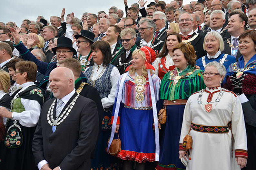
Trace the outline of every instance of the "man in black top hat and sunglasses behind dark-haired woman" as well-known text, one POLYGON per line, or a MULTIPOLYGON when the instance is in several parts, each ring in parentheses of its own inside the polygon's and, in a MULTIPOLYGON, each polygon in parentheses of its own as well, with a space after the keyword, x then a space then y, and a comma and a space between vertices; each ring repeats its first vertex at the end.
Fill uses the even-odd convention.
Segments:
POLYGON ((77 58, 78 61, 82 65, 82 72, 87 67, 94 65, 93 57, 92 57, 92 44, 94 42, 94 33, 81 30, 81 34, 75 35, 76 38, 76 46, 77 46, 77 58))

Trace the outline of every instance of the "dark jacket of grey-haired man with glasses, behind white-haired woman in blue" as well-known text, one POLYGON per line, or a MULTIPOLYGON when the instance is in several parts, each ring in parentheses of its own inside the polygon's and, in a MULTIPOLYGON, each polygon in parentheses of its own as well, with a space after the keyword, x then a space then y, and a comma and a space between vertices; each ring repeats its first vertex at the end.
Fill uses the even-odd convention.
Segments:
MULTIPOLYGON (((191 38, 195 35, 196 33, 194 32, 191 36, 191 38)), ((197 33, 198 34, 198 33, 197 33)), ((203 50, 203 36, 198 34, 197 38, 195 38, 193 41, 188 42, 191 44, 196 52, 197 59, 201 58, 202 56, 206 55, 206 51, 203 50)))

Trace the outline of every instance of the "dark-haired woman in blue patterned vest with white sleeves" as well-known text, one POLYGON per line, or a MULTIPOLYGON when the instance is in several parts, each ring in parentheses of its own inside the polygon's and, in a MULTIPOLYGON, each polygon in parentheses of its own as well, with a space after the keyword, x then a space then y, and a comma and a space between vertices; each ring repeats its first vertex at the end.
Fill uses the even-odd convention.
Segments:
POLYGON ((99 92, 104 108, 101 132, 96 146, 95 159, 92 159, 92 169, 118 169, 117 159, 105 151, 107 140, 111 134, 111 116, 115 101, 116 84, 119 79, 118 69, 110 64, 112 57, 110 46, 105 41, 96 41, 92 45, 94 65, 87 67, 84 75, 87 83, 99 92))

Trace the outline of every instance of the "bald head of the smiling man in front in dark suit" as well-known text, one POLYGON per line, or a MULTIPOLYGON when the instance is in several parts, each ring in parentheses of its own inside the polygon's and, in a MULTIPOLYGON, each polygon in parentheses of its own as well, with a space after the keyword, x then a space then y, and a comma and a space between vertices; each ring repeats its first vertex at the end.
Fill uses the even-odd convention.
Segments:
POLYGON ((49 76, 50 89, 55 98, 63 98, 74 90, 75 80, 72 70, 66 67, 53 69, 49 76))

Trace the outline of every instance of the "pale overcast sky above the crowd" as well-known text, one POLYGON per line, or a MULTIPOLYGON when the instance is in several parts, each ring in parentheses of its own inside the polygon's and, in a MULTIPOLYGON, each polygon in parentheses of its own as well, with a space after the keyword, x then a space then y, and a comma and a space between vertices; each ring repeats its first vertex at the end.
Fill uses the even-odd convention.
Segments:
MULTIPOLYGON (((183 4, 191 1, 183 0, 183 4)), ((153 0, 149 0, 146 5, 150 2, 153 0)), ((171 0, 165 0, 165 2, 170 3, 171 0)), ((128 0, 129 7, 133 3, 138 3, 138 0, 128 0)), ((50 16, 60 16, 63 8, 66 9, 66 14, 74 12, 75 17, 81 19, 84 12, 95 13, 96 15, 98 11, 108 13, 111 6, 116 6, 124 11, 123 0, 1 0, 0 21, 5 23, 13 21, 16 22, 17 26, 20 26, 24 19, 36 21, 38 15, 50 20, 50 16)), ((66 14, 64 18, 66 18, 66 14)))

